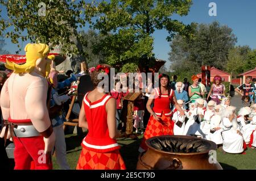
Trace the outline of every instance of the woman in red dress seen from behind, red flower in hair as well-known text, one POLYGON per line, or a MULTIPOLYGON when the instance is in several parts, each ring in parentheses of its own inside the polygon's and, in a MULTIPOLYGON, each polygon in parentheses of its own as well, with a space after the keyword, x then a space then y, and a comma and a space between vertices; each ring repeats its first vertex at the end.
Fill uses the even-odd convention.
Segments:
POLYGON ((120 146, 115 140, 115 99, 97 87, 101 80, 97 76, 102 71, 108 73, 104 66, 97 66, 91 72, 94 89, 84 96, 79 114, 79 127, 88 129, 82 140, 82 151, 76 169, 119 170, 126 169, 119 153, 120 146))

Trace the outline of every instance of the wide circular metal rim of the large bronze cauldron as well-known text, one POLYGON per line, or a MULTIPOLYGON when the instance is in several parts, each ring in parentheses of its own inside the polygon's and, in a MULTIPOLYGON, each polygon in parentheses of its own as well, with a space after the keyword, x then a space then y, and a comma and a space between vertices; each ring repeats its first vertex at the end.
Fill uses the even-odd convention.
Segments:
POLYGON ((172 154, 172 155, 200 155, 200 154, 206 154, 206 153, 208 154, 210 150, 217 150, 217 145, 213 141, 209 141, 209 140, 205 140, 205 139, 197 138, 197 137, 193 137, 193 136, 184 136, 184 135, 154 136, 154 137, 148 138, 146 140, 146 145, 147 145, 148 148, 150 148, 152 150, 155 150, 155 151, 157 151, 159 153, 172 154), (193 140, 203 140, 203 141, 208 142, 210 144, 210 148, 205 150, 205 151, 196 152, 196 153, 179 153, 179 152, 163 151, 163 150, 155 149, 153 146, 150 145, 150 141, 155 140, 156 138, 164 138, 164 137, 180 137, 180 138, 191 138, 193 140))

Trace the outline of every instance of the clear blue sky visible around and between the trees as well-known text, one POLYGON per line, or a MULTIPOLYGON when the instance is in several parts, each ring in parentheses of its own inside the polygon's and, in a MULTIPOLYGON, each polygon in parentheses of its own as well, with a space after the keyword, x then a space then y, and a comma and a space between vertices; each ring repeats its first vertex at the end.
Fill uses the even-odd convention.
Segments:
MULTIPOLYGON (((256 49, 256 1, 255 0, 193 0, 193 5, 187 16, 172 16, 184 24, 192 22, 211 23, 217 20, 233 29, 237 36, 237 45, 249 45, 256 49), (209 16, 209 3, 214 2, 217 5, 217 16, 209 16)), ((168 61, 168 52, 170 52, 170 43, 166 37, 168 32, 164 30, 155 31, 154 36, 154 53, 156 58, 166 60, 166 66, 170 66, 168 61)), ((9 39, 6 40, 5 49, 11 54, 18 50, 16 44, 12 44, 9 39)), ((20 43, 22 49, 26 43, 20 43)), ((24 51, 20 52, 24 54, 24 51)))

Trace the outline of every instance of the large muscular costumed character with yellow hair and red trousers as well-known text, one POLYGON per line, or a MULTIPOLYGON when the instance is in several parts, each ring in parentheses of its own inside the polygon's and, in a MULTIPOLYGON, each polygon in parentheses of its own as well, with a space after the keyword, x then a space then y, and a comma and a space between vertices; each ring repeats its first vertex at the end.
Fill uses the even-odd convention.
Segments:
POLYGON ((52 169, 55 134, 47 110, 45 78, 51 68, 51 60, 47 58, 49 47, 27 44, 24 50, 26 64, 6 60, 6 68, 14 72, 1 91, 0 103, 6 121, 0 136, 13 138, 14 169, 31 169, 31 163, 35 169, 52 169))

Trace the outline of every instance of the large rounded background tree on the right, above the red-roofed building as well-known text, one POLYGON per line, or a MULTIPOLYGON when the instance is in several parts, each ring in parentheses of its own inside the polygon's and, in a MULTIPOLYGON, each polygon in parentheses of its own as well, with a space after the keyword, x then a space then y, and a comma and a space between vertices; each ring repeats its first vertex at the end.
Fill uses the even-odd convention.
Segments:
POLYGON ((171 42, 171 70, 179 73, 185 71, 187 75, 199 73, 202 65, 223 70, 229 49, 234 47, 236 41, 228 26, 221 26, 218 22, 198 24, 191 39, 176 35, 171 42))

